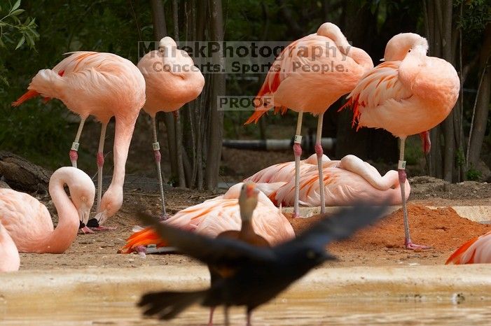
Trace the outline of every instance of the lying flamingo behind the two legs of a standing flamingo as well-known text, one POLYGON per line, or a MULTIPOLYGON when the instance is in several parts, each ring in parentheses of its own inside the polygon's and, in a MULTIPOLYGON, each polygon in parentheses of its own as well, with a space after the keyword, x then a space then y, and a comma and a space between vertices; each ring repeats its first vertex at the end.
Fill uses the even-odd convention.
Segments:
MULTIPOLYGON (((319 174, 317 165, 312 164, 315 155, 300 164, 300 204, 319 206, 319 174)), ((244 181, 254 181, 275 204, 292 206, 295 196, 295 162, 275 164, 259 171, 244 181), (268 184, 268 187, 264 186, 268 184)), ((329 160, 324 155, 324 196, 329 206, 348 206, 354 201, 369 200, 377 204, 388 201, 389 204, 401 204, 399 175, 397 171, 388 171, 384 176, 375 167, 354 155, 342 160, 329 160)), ((406 199, 410 185, 406 186, 406 199)))

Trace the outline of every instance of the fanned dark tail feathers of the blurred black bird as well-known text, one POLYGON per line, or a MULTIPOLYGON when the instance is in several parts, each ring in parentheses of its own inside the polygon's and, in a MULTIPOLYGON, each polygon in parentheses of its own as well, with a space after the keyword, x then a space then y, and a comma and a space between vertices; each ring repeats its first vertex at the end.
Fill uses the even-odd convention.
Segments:
POLYGON ((191 304, 200 302, 208 290, 193 292, 151 292, 143 295, 138 303, 144 309, 145 316, 157 315, 163 320, 170 320, 184 311, 191 304))

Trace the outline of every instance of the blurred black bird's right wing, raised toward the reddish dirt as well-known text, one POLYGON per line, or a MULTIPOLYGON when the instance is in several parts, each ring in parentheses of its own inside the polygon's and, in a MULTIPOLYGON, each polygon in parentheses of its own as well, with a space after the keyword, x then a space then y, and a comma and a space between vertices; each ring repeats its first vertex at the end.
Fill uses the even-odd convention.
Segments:
MULTIPOLYGON (((375 222, 387 211, 387 206, 370 206, 359 203, 352 207, 342 208, 335 215, 325 215, 295 239, 279 245, 275 253, 288 252, 291 246, 302 244, 310 248, 324 248, 331 241, 346 239, 361 227, 375 222)), ((328 256, 329 257, 329 256, 328 256)))

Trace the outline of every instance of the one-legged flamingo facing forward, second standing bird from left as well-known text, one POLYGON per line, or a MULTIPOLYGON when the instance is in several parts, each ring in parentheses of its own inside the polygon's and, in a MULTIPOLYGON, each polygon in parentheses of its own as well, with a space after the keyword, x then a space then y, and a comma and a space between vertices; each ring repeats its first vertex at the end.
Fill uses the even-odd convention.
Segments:
POLYGON ((146 82, 146 102, 144 111, 152 118, 153 155, 157 165, 160 197, 162 199, 162 216, 166 217, 162 172, 160 170, 160 144, 155 127, 155 115, 160 112, 173 112, 177 117, 179 108, 193 101, 201 94, 205 85, 198 69, 183 50, 177 50, 174 40, 168 36, 160 40, 159 50, 148 52, 138 62, 146 82))

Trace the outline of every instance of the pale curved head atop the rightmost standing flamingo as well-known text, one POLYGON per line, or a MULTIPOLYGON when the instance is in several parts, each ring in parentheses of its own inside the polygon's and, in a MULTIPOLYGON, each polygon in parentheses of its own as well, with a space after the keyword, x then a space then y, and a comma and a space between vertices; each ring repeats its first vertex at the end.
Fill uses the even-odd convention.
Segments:
POLYGON ((413 50, 426 55, 428 50, 427 39, 414 33, 397 34, 387 42, 382 61, 402 61, 413 50))

